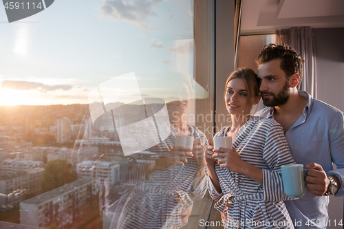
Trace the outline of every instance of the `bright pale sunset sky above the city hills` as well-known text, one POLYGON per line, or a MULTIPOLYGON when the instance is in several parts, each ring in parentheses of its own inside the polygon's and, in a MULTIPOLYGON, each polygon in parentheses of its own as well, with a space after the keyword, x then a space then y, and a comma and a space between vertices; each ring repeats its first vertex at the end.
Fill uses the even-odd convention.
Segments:
POLYGON ((0 31, 0 105, 87 103, 129 72, 168 99, 173 72, 193 77, 191 0, 56 0, 13 23, 0 8, 0 31))

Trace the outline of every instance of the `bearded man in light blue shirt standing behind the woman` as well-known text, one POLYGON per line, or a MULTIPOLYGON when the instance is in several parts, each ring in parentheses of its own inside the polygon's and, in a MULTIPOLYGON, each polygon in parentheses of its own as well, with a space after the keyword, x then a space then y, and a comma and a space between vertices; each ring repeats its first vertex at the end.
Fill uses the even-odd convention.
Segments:
POLYGON ((285 201, 295 228, 326 228, 327 221, 334 220, 327 215, 328 195, 344 195, 344 113, 299 91, 303 63, 291 47, 264 47, 257 65, 267 107, 257 115, 279 122, 294 160, 313 168, 305 177, 308 192, 285 201))

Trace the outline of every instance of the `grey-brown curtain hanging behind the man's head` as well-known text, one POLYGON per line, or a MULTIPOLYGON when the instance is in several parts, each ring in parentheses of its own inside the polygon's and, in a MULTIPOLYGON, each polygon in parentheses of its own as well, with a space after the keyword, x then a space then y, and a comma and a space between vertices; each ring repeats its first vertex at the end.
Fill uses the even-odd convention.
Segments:
POLYGON ((316 55, 314 33, 310 27, 293 27, 276 30, 276 44, 285 43, 297 50, 305 58, 301 90, 316 98, 316 55))

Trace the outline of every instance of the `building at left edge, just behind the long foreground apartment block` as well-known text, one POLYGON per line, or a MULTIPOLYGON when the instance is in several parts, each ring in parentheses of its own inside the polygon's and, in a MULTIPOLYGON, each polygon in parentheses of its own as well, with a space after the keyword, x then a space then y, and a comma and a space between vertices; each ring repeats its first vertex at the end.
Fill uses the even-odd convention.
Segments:
POLYGON ((41 191, 41 179, 44 168, 32 168, 30 171, 17 173, 17 175, 0 176, 0 193, 8 195, 15 190, 25 189, 26 193, 38 194, 41 191))

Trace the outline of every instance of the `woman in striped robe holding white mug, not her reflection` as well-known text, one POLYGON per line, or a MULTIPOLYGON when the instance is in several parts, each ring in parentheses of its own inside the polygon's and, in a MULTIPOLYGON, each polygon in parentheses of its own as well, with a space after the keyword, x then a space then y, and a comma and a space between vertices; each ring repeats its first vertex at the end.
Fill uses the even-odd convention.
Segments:
POLYGON ((233 72, 224 100, 232 125, 215 136, 231 136, 233 149, 214 149, 208 140, 205 157, 209 192, 226 216, 225 228, 294 228, 283 203, 291 198, 283 192, 280 167, 294 163, 283 129, 275 120, 250 116, 260 100, 257 74, 233 72))

